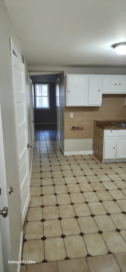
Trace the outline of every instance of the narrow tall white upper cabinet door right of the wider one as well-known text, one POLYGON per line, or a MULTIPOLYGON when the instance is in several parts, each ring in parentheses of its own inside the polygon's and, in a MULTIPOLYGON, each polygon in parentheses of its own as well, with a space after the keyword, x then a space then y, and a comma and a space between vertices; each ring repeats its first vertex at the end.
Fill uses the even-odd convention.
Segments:
POLYGON ((101 106, 101 76, 89 76, 88 105, 101 106))

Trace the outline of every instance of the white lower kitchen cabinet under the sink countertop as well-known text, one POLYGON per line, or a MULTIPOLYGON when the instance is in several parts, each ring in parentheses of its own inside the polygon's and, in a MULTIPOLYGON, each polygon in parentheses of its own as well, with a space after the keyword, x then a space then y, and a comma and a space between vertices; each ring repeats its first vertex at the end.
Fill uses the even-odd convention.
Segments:
POLYGON ((126 161, 126 129, 104 130, 102 162, 126 161))

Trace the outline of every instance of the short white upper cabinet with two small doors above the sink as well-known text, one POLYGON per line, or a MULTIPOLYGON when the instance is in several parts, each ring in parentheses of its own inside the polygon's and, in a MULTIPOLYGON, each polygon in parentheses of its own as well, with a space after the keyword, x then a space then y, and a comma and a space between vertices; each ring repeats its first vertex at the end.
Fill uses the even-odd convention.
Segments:
POLYGON ((126 76, 103 76, 102 94, 125 94, 126 76))

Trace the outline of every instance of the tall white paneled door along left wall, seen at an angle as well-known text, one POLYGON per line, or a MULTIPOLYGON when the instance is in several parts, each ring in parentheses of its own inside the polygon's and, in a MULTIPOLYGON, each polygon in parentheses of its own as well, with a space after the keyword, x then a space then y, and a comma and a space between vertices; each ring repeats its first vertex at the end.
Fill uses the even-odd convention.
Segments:
POLYGON ((14 54, 12 54, 12 68, 14 74, 15 122, 17 128, 19 188, 23 225, 30 201, 25 67, 14 54))

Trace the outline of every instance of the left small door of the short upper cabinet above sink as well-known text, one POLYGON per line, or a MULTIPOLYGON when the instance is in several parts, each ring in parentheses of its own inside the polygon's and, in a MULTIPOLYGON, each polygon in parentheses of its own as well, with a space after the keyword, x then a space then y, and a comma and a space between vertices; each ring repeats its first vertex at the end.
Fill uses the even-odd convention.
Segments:
POLYGON ((116 76, 103 76, 102 78, 102 93, 112 94, 116 92, 117 77, 116 76))

